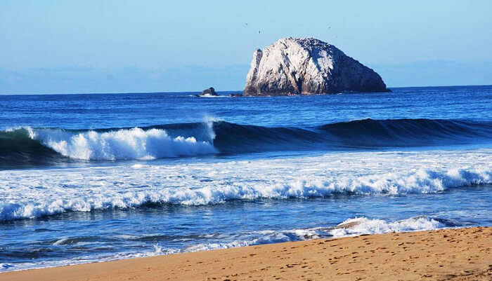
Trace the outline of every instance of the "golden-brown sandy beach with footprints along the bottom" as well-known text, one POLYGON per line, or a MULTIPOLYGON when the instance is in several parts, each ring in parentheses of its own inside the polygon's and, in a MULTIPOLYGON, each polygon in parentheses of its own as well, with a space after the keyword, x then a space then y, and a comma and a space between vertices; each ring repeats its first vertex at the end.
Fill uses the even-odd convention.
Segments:
POLYGON ((1 273, 0 280, 492 280, 492 227, 86 263, 1 273))

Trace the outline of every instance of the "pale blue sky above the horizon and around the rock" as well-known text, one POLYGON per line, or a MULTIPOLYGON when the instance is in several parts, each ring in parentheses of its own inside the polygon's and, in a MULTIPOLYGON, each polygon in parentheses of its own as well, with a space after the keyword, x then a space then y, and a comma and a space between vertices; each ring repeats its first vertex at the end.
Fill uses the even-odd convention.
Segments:
POLYGON ((0 0, 0 93, 242 90, 252 54, 315 37, 389 85, 492 84, 492 1, 0 0))

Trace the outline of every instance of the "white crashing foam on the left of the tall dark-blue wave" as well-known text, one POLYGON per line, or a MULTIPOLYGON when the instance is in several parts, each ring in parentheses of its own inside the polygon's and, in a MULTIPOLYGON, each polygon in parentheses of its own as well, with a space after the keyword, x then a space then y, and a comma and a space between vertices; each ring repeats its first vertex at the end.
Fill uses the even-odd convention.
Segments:
POLYGON ((169 137, 166 130, 160 129, 132 128, 79 133, 56 129, 26 129, 32 139, 39 140, 63 156, 82 160, 150 160, 217 152, 209 142, 198 142, 195 137, 169 137))

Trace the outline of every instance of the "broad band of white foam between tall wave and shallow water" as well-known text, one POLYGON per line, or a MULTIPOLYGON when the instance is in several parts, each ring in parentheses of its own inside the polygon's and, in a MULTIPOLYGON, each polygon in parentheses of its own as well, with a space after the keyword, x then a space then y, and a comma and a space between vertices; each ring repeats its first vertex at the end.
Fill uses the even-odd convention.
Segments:
MULTIPOLYGON (((492 184, 492 150, 350 152, 268 160, 0 171, 0 220, 256 198, 439 193, 492 184)), ((370 200, 370 199, 368 199, 370 200)))

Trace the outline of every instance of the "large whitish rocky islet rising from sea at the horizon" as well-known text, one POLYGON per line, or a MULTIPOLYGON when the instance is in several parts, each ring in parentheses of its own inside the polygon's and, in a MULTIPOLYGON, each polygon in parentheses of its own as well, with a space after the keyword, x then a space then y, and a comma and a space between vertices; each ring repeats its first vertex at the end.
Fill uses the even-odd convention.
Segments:
POLYGON ((313 38, 284 38, 256 50, 244 95, 388 91, 373 69, 313 38))

